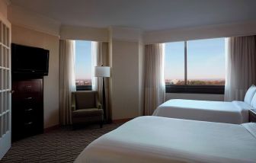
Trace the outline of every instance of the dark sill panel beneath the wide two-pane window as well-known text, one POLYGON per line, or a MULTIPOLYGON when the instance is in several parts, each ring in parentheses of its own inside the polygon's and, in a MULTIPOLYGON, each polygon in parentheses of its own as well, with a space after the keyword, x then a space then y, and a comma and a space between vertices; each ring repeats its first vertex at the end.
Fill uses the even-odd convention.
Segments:
POLYGON ((224 94, 225 85, 165 85, 165 93, 224 94))

